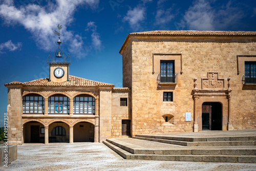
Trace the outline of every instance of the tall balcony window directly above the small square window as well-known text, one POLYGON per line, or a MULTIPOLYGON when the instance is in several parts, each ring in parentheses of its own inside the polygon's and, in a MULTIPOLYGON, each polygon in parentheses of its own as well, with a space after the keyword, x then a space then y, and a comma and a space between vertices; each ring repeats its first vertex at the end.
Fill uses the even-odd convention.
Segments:
POLYGON ((175 82, 174 60, 160 61, 160 82, 175 82))

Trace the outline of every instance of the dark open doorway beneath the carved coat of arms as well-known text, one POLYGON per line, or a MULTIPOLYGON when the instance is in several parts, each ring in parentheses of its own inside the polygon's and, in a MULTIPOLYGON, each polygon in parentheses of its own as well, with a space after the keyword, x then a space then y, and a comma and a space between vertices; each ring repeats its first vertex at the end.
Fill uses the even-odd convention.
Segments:
POLYGON ((222 105, 219 102, 202 104, 202 130, 222 130, 222 105))

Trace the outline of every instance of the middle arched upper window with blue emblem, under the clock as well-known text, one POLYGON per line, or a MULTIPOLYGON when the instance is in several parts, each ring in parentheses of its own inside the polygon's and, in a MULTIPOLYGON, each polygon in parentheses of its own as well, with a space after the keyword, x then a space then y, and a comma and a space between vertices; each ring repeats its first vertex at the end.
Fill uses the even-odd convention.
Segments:
POLYGON ((53 95, 48 101, 49 114, 68 114, 69 98, 64 95, 53 95))

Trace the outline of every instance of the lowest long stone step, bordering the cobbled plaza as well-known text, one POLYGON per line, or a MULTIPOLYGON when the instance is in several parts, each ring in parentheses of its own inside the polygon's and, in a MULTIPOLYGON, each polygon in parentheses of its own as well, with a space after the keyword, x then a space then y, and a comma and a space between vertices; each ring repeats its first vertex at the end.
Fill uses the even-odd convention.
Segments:
MULTIPOLYGON (((110 143, 103 141, 105 145, 110 147, 117 154, 124 159, 132 160, 164 160, 164 161, 196 161, 196 162, 232 162, 232 163, 256 163, 256 156, 254 155, 160 155, 160 154, 132 154, 124 149, 110 143)), ((200 150, 199 150, 200 151, 200 150)), ((194 151, 196 152, 196 151, 194 151)), ((245 151, 244 151, 245 152, 245 151)), ((233 152, 232 152, 233 153, 233 152)), ((238 151, 236 152, 238 153, 238 151)), ((201 154, 201 152, 199 153, 201 154)), ((242 153, 243 154, 243 153, 242 153)), ((247 154, 247 153, 246 153, 247 154)))

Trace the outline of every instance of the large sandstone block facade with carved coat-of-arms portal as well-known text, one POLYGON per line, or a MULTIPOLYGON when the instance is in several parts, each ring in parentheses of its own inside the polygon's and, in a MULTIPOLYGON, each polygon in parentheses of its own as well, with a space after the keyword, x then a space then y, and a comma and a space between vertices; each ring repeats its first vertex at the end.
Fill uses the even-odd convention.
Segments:
POLYGON ((256 60, 255 35, 207 31, 129 34, 120 54, 123 86, 132 90, 132 135, 201 131, 204 102, 221 103, 222 130, 256 129, 256 84, 242 83, 244 61, 256 60), (174 60, 177 75, 173 83, 157 80, 160 60, 174 60), (164 92, 173 92, 173 101, 163 101, 164 92), (191 113, 191 121, 185 121, 186 112, 191 113), (165 116, 171 119, 166 122, 165 116))

